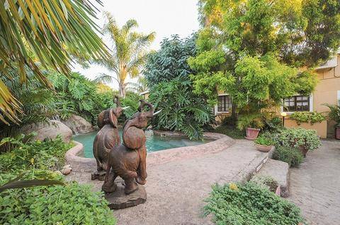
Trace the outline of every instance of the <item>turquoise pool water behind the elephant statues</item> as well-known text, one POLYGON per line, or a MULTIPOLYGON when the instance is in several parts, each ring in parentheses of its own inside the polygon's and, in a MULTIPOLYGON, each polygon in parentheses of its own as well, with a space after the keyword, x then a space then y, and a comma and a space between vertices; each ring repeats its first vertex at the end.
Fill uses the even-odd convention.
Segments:
MULTIPOLYGON (((92 146, 94 138, 96 137, 97 131, 86 133, 84 135, 74 135, 73 140, 81 142, 84 145, 84 157, 94 158, 92 146)), ((120 131, 121 135, 121 131, 120 131)), ((120 136, 121 138, 121 136, 120 136)), ((121 138, 122 140, 122 138, 121 138)), ((156 152, 159 150, 167 150, 174 147, 185 147, 192 145, 201 145, 209 140, 205 141, 193 141, 188 138, 173 138, 173 137, 161 137, 159 135, 147 135, 147 152, 156 152)))

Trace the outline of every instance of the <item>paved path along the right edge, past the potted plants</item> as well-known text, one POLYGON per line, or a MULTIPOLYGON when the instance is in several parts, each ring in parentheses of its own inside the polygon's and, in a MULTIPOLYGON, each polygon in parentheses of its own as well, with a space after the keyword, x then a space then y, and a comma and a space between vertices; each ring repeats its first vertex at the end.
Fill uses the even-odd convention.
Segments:
POLYGON ((302 209, 308 224, 339 224, 339 187, 340 141, 322 141, 300 168, 290 169, 289 199, 302 209))

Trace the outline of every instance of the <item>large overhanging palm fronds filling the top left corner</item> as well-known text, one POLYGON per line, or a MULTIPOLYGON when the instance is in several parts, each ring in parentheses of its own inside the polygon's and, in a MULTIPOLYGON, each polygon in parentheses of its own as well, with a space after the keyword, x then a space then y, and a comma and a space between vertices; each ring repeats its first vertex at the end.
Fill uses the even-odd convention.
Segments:
POLYGON ((40 83, 51 87, 42 68, 68 74, 74 56, 108 56, 94 31, 99 31, 91 20, 95 16, 89 0, 0 0, 0 121, 19 123, 22 113, 21 103, 4 83, 4 77, 12 78, 8 67, 16 68, 21 83, 27 83, 28 68, 40 83))

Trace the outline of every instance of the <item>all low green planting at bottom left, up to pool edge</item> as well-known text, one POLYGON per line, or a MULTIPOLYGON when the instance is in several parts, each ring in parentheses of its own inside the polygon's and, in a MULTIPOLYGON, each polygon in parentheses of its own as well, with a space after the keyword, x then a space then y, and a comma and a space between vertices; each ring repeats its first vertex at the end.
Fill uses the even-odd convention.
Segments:
POLYGON ((0 224, 115 224, 102 193, 77 182, 67 183, 56 172, 64 166, 64 154, 71 145, 60 137, 40 141, 25 135, 4 138, 0 145, 5 143, 13 148, 0 154, 0 224), (17 179, 40 186, 4 186, 17 179), (41 186, 45 181, 59 182, 58 186, 41 186))

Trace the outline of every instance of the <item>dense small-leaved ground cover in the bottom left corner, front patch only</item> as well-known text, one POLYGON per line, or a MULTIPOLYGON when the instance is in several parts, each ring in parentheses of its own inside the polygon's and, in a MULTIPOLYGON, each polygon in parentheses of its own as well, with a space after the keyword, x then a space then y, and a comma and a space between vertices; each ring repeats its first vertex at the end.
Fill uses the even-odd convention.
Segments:
POLYGON ((0 193, 0 224, 115 224, 115 219, 101 193, 69 183, 0 193))

